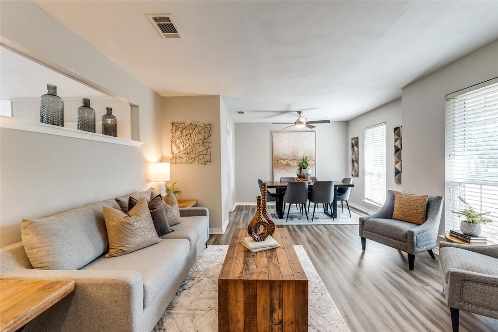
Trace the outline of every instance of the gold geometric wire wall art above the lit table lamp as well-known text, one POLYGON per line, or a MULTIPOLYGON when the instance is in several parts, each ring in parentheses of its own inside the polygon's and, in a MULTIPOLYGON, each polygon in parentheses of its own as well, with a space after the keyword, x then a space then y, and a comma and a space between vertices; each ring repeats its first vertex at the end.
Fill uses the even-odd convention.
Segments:
POLYGON ((210 123, 171 122, 171 163, 211 164, 210 123))

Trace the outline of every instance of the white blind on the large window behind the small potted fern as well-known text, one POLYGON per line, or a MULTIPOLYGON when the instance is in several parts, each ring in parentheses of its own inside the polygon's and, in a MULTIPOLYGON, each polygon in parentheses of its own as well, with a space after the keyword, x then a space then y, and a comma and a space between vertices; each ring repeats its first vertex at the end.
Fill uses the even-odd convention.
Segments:
MULTIPOLYGON (((446 230, 460 229, 464 197, 498 221, 498 83, 446 101, 446 230)), ((483 224, 498 239, 498 223, 483 224)))

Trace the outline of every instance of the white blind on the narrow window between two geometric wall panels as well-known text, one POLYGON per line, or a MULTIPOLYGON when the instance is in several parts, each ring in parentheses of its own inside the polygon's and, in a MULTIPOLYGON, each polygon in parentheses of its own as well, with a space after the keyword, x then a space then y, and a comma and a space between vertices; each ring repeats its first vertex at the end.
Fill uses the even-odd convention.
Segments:
POLYGON ((365 129, 365 200, 385 201, 385 123, 365 129))

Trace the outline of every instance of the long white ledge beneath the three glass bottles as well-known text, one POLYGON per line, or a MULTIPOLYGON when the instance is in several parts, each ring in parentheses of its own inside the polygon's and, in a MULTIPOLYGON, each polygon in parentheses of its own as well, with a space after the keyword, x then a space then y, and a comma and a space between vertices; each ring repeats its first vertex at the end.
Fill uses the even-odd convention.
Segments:
POLYGON ((84 132, 77 129, 47 125, 44 123, 0 116, 0 128, 22 130, 26 132, 63 136, 88 141, 127 145, 139 148, 143 143, 139 141, 126 140, 119 137, 112 137, 97 133, 84 132))

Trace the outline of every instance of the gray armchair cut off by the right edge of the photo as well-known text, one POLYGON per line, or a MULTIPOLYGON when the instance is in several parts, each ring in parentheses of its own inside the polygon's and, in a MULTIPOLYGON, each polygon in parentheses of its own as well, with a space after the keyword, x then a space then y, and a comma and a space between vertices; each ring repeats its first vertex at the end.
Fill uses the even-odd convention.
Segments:
POLYGON ((498 244, 439 243, 439 270, 453 332, 460 310, 498 319, 498 244))

